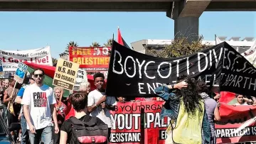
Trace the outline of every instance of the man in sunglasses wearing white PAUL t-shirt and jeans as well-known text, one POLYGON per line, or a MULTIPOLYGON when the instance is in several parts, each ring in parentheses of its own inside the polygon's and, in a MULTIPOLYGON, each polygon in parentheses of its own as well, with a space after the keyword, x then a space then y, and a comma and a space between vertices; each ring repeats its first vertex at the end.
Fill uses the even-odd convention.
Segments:
POLYGON ((55 133, 58 133, 56 99, 53 89, 43 84, 44 71, 41 68, 34 72, 35 83, 26 87, 21 104, 27 121, 28 135, 31 144, 53 143, 52 116, 55 123, 55 133))

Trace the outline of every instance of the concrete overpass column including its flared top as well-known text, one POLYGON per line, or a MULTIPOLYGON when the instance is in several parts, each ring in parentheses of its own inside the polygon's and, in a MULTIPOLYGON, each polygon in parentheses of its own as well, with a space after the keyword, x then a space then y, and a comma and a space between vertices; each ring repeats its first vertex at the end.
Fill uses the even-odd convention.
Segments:
POLYGON ((174 38, 186 37, 189 42, 198 40, 199 17, 211 0, 174 1, 166 15, 174 19, 174 38))

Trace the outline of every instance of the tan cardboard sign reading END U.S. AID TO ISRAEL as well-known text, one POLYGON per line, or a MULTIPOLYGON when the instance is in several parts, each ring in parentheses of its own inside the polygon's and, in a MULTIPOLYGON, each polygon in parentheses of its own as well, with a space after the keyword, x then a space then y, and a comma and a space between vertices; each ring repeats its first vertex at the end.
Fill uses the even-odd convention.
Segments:
POLYGON ((53 85, 73 91, 78 67, 79 64, 60 58, 55 69, 53 85))

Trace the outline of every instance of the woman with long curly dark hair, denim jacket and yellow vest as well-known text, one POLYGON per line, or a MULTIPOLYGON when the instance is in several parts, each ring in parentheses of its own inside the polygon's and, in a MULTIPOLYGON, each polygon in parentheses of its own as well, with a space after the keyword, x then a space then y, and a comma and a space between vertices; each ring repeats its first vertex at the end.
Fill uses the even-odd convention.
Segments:
POLYGON ((156 94, 166 101, 161 118, 168 116, 172 120, 166 130, 166 144, 210 143, 205 105, 196 88, 195 79, 183 76, 178 77, 177 84, 164 84, 155 89, 156 94))

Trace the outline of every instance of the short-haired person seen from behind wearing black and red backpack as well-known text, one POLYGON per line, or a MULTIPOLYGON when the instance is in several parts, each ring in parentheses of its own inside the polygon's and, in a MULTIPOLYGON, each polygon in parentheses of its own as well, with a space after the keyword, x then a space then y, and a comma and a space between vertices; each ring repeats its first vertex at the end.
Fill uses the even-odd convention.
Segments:
POLYGON ((100 118, 87 115, 87 94, 76 92, 70 96, 75 117, 63 122, 60 144, 107 143, 108 126, 100 118))

